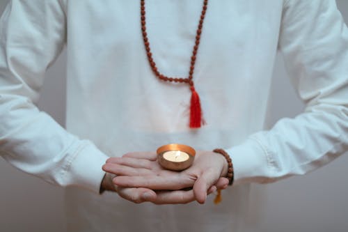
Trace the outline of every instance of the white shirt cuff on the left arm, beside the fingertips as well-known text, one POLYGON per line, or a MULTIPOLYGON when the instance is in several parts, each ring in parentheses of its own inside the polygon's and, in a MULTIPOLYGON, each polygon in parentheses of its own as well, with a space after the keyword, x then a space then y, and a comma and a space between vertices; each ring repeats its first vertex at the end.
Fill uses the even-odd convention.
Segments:
POLYGON ((102 165, 109 157, 92 142, 83 141, 63 174, 65 185, 74 185, 99 194, 105 172, 102 165))

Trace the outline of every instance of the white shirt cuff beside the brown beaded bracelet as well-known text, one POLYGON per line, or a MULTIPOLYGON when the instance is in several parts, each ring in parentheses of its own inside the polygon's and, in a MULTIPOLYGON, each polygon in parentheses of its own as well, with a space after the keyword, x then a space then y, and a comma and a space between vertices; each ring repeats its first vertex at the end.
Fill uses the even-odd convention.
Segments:
POLYGON ((244 183, 268 183, 271 162, 267 152, 255 139, 247 139, 243 144, 226 149, 234 170, 233 185, 244 183))

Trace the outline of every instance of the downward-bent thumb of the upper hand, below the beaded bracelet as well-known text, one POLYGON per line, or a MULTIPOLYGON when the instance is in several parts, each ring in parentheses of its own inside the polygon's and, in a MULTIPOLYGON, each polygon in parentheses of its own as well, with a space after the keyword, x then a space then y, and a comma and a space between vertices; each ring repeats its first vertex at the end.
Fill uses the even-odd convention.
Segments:
POLYGON ((216 178, 214 170, 207 169, 203 171, 202 175, 198 177, 193 185, 193 194, 198 201, 198 203, 205 203, 207 199, 207 192, 209 188, 216 183, 219 176, 216 178))

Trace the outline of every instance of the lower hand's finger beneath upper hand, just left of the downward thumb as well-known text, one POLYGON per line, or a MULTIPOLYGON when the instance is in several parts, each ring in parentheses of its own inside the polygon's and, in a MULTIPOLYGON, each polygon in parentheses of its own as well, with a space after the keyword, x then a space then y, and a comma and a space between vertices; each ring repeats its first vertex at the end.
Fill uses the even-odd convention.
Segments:
POLYGON ((155 204, 184 204, 195 201, 193 190, 184 191, 161 191, 157 192, 157 198, 155 201, 152 201, 155 204))

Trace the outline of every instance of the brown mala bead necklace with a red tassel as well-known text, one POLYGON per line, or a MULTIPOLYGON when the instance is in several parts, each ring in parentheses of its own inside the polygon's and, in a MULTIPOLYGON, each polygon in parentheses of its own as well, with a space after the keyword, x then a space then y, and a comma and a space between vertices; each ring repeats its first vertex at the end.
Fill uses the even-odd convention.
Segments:
POLYGON ((198 29, 196 32, 196 41, 193 46, 193 52, 191 56, 191 65, 189 70, 189 77, 167 77, 166 75, 161 74, 159 72, 155 61, 152 59, 152 53, 150 49, 150 42, 148 40, 148 33, 146 32, 146 12, 145 12, 145 0, 141 0, 141 31, 143 33, 143 42, 145 45, 145 49, 148 55, 148 61, 150 63, 150 67, 152 72, 155 73, 156 77, 165 82, 178 82, 188 84, 191 90, 191 105, 190 105, 190 122, 189 127, 191 128, 199 128, 203 124, 202 117, 202 109, 200 108, 200 98, 193 84, 193 72, 196 64, 196 55, 198 51, 198 47, 200 44, 200 35, 203 29, 203 22, 205 18, 205 12, 207 11, 208 0, 203 1, 203 9, 200 14, 200 20, 198 24, 198 29))

